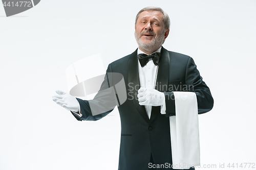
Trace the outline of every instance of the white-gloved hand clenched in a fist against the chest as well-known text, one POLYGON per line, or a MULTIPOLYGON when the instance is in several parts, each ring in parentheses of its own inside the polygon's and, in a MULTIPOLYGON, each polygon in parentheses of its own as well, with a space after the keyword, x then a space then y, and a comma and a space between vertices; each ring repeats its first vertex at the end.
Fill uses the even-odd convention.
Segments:
POLYGON ((138 90, 138 101, 140 105, 161 106, 164 102, 164 93, 156 89, 143 88, 138 90))

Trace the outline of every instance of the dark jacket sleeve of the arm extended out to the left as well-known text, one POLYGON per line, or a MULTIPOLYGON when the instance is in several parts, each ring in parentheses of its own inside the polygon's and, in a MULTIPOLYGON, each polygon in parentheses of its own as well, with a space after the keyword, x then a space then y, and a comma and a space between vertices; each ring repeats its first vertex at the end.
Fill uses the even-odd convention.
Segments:
POLYGON ((101 84, 100 90, 95 95, 93 100, 77 99, 80 105, 80 113, 82 116, 71 112, 77 120, 99 120, 108 115, 116 106, 115 93, 111 90, 112 78, 109 76, 111 65, 106 70, 104 81, 101 84))

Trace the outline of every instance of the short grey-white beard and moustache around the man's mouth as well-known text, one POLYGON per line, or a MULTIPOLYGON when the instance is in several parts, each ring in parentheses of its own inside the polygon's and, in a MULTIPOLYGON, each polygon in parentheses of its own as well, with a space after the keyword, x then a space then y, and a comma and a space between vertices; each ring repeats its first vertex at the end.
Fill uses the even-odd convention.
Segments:
MULTIPOLYGON (((152 32, 148 32, 148 33, 154 34, 152 32)), ((145 34, 145 32, 143 32, 139 35, 136 34, 136 30, 134 32, 135 39, 141 49, 150 51, 151 49, 155 49, 155 48, 161 46, 164 42, 164 32, 161 36, 155 36, 156 34, 154 34, 155 38, 150 43, 145 43, 141 40, 141 36, 143 36, 143 34, 145 34)))

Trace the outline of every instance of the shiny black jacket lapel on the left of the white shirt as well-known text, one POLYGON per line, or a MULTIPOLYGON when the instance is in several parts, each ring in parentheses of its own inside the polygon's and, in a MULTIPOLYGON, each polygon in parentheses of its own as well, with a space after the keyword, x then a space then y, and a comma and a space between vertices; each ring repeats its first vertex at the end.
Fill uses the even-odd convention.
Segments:
MULTIPOLYGON (((138 49, 137 49, 138 50, 138 49)), ((128 86, 129 86, 129 93, 132 94, 133 103, 140 113, 140 115, 146 120, 146 122, 150 122, 146 114, 146 109, 144 106, 139 105, 137 94, 140 88, 140 81, 139 81, 139 71, 138 71, 138 59, 137 59, 137 50, 133 52, 129 59, 129 66, 128 66, 128 86)))

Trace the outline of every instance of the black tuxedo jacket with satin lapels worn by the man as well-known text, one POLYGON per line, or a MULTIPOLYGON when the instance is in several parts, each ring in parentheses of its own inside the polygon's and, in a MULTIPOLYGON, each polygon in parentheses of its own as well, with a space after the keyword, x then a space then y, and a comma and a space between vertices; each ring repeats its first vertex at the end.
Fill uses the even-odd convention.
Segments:
MULTIPOLYGON (((202 80, 194 60, 162 47, 156 89, 165 93, 166 114, 160 113, 160 106, 152 107, 150 119, 145 107, 140 106, 137 99, 139 89, 137 50, 109 64, 107 72, 122 74, 127 92, 127 100, 118 106, 121 119, 119 170, 148 170, 151 155, 155 164, 172 165, 168 118, 175 115, 175 98, 172 91, 195 92, 199 114, 210 111, 214 104, 210 90, 202 80)), ((106 77, 101 89, 110 86, 111 82, 106 77)), ((74 114, 78 120, 98 120, 112 111, 93 116, 88 101, 77 100, 82 112, 81 118, 74 114)), ((105 102, 108 101, 99 99, 102 105, 105 102)))

